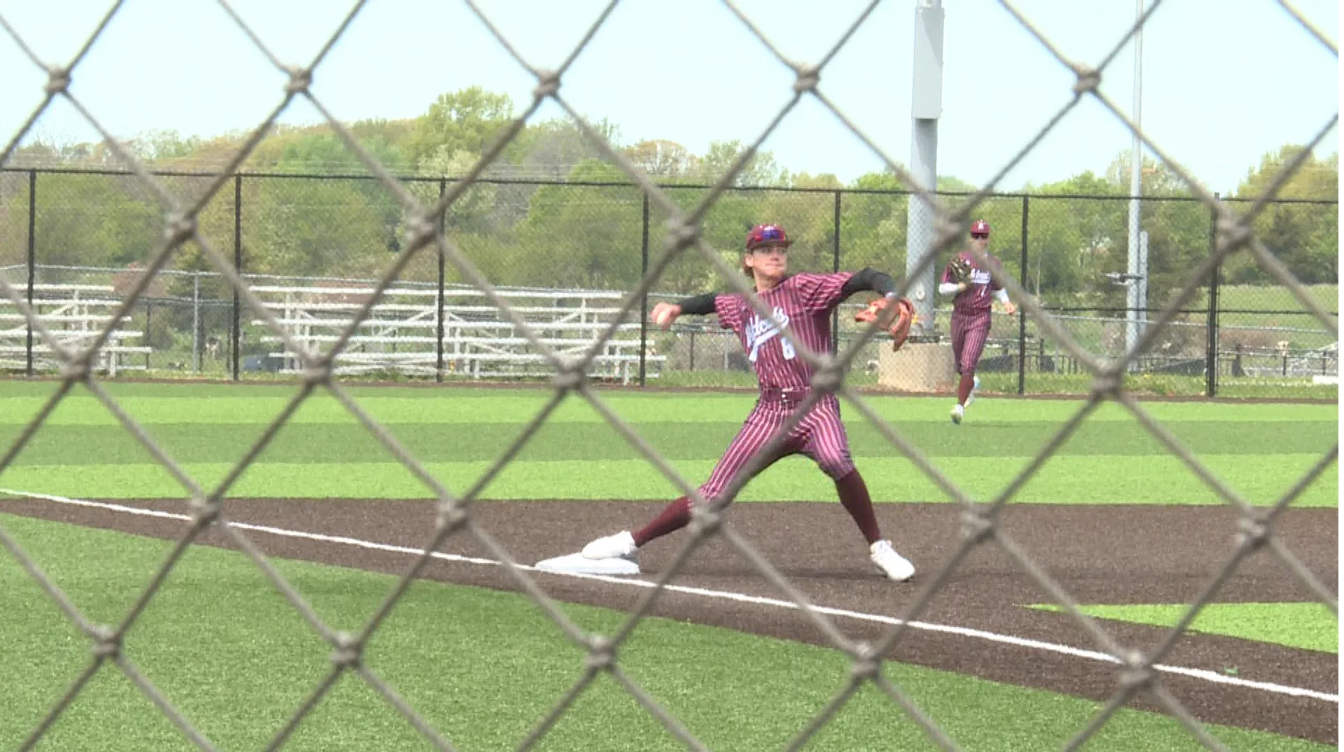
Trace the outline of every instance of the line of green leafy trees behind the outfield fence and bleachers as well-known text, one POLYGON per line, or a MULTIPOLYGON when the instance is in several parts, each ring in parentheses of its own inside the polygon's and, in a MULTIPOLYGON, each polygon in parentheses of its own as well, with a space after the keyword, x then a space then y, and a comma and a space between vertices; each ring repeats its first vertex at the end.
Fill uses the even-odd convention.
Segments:
MULTIPOLYGON (((516 115, 505 94, 480 87, 448 93, 415 118, 349 124, 351 134, 391 172, 421 176, 409 189, 430 201, 509 126, 516 115)), ((735 141, 712 144, 703 154, 672 141, 622 144, 606 121, 594 128, 621 154, 653 176, 681 207, 700 201, 706 189, 743 153, 735 141)), ((149 132, 125 142, 156 169, 218 169, 235 153, 246 133, 183 137, 149 132)), ((1247 169, 1236 199, 1259 196, 1301 146, 1285 145, 1247 169)), ((120 168, 106 144, 36 141, 20 148, 7 167, 120 168)), ((995 196, 977 215, 995 228, 991 250, 1015 277, 1050 305, 1116 305, 1124 291, 1107 274, 1125 271, 1128 256, 1129 156, 1121 153, 1103 175, 1083 172, 1027 185, 1027 269, 1021 196, 995 196)), ((403 248, 406 216, 376 180, 310 177, 367 175, 356 154, 329 126, 277 126, 249 160, 241 207, 231 188, 220 191, 200 216, 204 235, 233 252, 237 220, 242 228, 245 269, 253 273, 308 277, 376 277, 391 254, 403 248), (300 175, 304 175, 302 177, 300 175)), ((496 285, 589 289, 633 287, 644 269, 648 235, 656 263, 667 242, 667 216, 579 129, 569 121, 530 124, 504 149, 488 181, 469 187, 448 212, 445 231, 496 285), (497 180, 496 180, 497 179, 497 180), (521 180, 521 181, 520 181, 521 180), (538 180, 563 184, 538 184, 538 180)), ((187 199, 208 185, 207 177, 164 177, 164 185, 187 199)), ((22 263, 28 223, 28 177, 0 173, 0 265, 22 263)), ((706 244, 735 265, 745 230, 753 223, 785 223, 797 238, 794 265, 831 269, 839 247, 840 266, 876 266, 898 275, 905 270, 907 196, 890 172, 874 172, 843 184, 833 175, 793 173, 769 152, 757 153, 719 197, 703 223, 706 244), (836 196, 839 192, 839 222, 836 196)), ((938 189, 956 204, 973 185, 952 176, 938 189)), ((1149 297, 1161 305, 1210 252, 1210 209, 1189 199, 1188 187, 1165 165, 1144 161, 1141 226, 1149 243, 1149 297)), ((1265 244, 1302 282, 1339 279, 1339 154, 1306 157, 1278 196, 1336 203, 1274 203, 1255 220, 1265 244)), ((1250 203, 1234 204, 1250 208, 1250 203)), ((35 207, 38 263, 124 267, 144 262, 160 236, 161 208, 133 176, 43 173, 35 207)), ((187 247, 179 269, 210 269, 202 250, 187 247)), ((1223 281, 1271 285, 1274 281, 1246 252, 1228 259, 1223 281)), ((437 278, 437 259, 422 252, 406 277, 437 278)), ((457 279, 453 266, 449 281, 457 279)), ((687 251, 664 271, 657 290, 692 293, 720 287, 722 281, 699 250, 687 251)), ((222 293, 222 290, 220 290, 222 293)))

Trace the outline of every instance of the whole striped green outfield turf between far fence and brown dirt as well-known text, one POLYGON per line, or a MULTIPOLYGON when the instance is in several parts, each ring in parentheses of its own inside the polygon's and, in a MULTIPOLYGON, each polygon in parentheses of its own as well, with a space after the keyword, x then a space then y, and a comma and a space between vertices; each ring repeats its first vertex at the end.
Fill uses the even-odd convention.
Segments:
MULTIPOLYGON (((0 446, 12 444, 52 383, 0 381, 0 446)), ((215 384, 109 384, 122 408, 199 482, 212 486, 258 440, 293 388, 215 384)), ((469 487, 544 407, 542 389, 351 388, 368 414, 449 489, 469 487)), ((742 393, 606 392, 601 397, 648 444, 698 485, 751 408, 742 393)), ((953 426, 946 400, 868 397, 931 465, 977 498, 992 498, 1028 466, 1078 402, 982 399, 953 426)), ((1275 502, 1335 443, 1337 406, 1149 403, 1144 408, 1251 504, 1275 502)), ((878 501, 946 501, 859 411, 844 406, 856 463, 878 501)), ((181 489, 116 416, 83 388, 50 415, 0 487, 75 497, 175 497, 181 489)), ((396 463, 327 393, 306 400, 270 440, 233 493, 254 497, 425 497, 396 463)), ((676 496, 617 428, 570 396, 485 489, 485 498, 636 498, 676 496)), ((743 501, 832 500, 831 481, 805 458, 771 467, 743 501)), ((1222 504, 1133 415, 1099 407, 1013 497, 1040 504, 1222 504)), ((1328 469, 1296 501, 1336 506, 1328 469)))

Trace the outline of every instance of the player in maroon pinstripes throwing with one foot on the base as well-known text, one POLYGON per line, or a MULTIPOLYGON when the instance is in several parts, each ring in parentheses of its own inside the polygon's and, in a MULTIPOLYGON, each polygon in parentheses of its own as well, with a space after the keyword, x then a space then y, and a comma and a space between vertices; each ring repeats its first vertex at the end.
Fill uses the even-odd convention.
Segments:
MULTIPOLYGON (((895 282, 891 277, 872 269, 790 275, 786 274, 790 244, 792 240, 778 224, 758 224, 747 234, 742 270, 755 282, 759 299, 770 306, 770 318, 762 318, 742 294, 714 293, 677 303, 657 303, 649 316, 655 324, 667 329, 679 316, 718 314, 719 325, 738 334, 761 383, 761 395, 746 423, 715 465, 710 479, 700 486, 700 494, 711 504, 727 501, 720 497, 730 482, 765 450, 810 388, 813 368, 797 357, 793 344, 781 336, 782 325, 788 325, 790 333, 813 352, 829 352, 831 312, 849 295, 874 290, 883 297, 855 320, 876 320, 888 328, 894 348, 899 348, 910 333, 914 308, 910 301, 895 298, 895 282)), ((896 553, 891 541, 883 538, 878 529, 868 489, 849 457, 849 440, 840 422, 840 400, 835 395, 817 400, 789 432, 788 440, 765 458, 757 473, 790 454, 812 458, 835 481, 840 504, 853 517, 868 543, 872 563, 892 580, 909 580, 915 568, 896 553)), ((637 551, 650 540, 684 528, 691 521, 691 504, 688 497, 681 497, 633 533, 622 530, 594 540, 583 547, 582 556, 633 560, 637 551)))

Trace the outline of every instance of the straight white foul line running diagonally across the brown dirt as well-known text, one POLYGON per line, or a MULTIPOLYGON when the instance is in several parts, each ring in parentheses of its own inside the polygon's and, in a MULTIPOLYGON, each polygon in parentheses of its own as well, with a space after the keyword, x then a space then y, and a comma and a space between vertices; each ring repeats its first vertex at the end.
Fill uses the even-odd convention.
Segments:
MULTIPOLYGON (((56 504, 66 504, 66 505, 70 505, 70 506, 89 506, 89 508, 94 508, 94 509, 106 509, 106 510, 110 510, 110 512, 125 512, 126 514, 138 514, 141 517, 160 517, 160 518, 164 518, 164 520, 191 521, 191 517, 188 517, 187 514, 175 514, 172 512, 160 512, 157 509, 141 509, 141 508, 137 508, 137 506, 125 506, 125 505, 121 505, 121 504, 108 504, 108 502, 103 502, 103 501, 86 501, 86 500, 66 498, 66 497, 51 496, 51 494, 40 494, 40 493, 30 493, 30 491, 15 491, 15 490, 8 490, 8 489, 0 489, 0 494, 13 496, 13 497, 22 497, 22 498, 31 498, 31 500, 52 501, 52 502, 56 502, 56 504)), ((386 543, 372 543, 372 541, 366 541, 366 540, 359 540, 359 538, 351 538, 351 537, 345 537, 345 536, 328 536, 328 534, 323 534, 323 533, 305 533, 302 530, 289 530, 289 529, 285 529, 285 528, 273 528, 270 525, 254 525, 251 522, 235 522, 233 520, 230 520, 228 524, 233 525, 233 526, 235 526, 235 528, 238 528, 238 529, 242 529, 242 530, 254 530, 254 532, 258 532, 258 533, 266 533, 266 534, 278 536, 278 537, 286 537, 286 538, 304 538, 304 540, 313 540, 313 541, 320 541, 320 543, 335 543, 335 544, 340 544, 340 545, 351 545, 351 547, 355 547, 355 548, 366 548, 366 549, 371 549, 371 551, 386 551, 386 552, 391 552, 391 553, 406 553, 406 555, 411 555, 411 556, 421 556, 425 552, 425 549, 422 549, 422 548, 410 548, 410 547, 405 547, 405 545, 391 545, 391 544, 386 544, 386 543)), ((480 557, 474 557, 474 556, 461 556, 461 555, 457 555, 457 553, 441 553, 441 552, 437 552, 437 551, 433 552, 433 553, 430 553, 430 556, 433 556, 434 559, 444 560, 444 561, 457 561, 457 563, 464 563, 464 564, 482 564, 482 565, 499 565, 500 564, 499 561, 496 561, 493 559, 480 559, 480 557)), ((519 569, 523 569, 523 571, 527 571, 527 572, 536 572, 536 573, 542 573, 542 575, 555 575, 555 576, 562 576, 562 577, 579 577, 579 579, 585 579, 585 580, 598 580, 598 581, 603 581, 603 583, 612 583, 612 584, 628 585, 628 587, 642 587, 642 588, 653 588, 653 587, 656 587, 655 583, 650 583, 648 580, 638 580, 638 579, 630 579, 630 577, 613 577, 613 576, 607 576, 607 575, 583 575, 583 573, 577 573, 577 572, 551 572, 551 571, 538 569, 538 568, 530 567, 527 564, 516 564, 516 567, 519 569)), ((780 599, 775 599, 775 598, 762 598, 762 596, 758 596, 758 595, 746 595, 746 594, 741 594, 741 592, 730 592, 730 591, 722 591, 722 590, 698 588, 698 587, 689 587, 689 585, 673 585, 673 584, 665 584, 665 585, 663 585, 663 590, 665 590, 668 592, 679 592, 679 594, 684 594, 684 595, 698 595, 698 596, 702 596, 702 598, 714 598, 714 599, 719 599, 719 600, 735 600, 735 602, 739 602, 739 603, 753 603, 753 604, 757 604, 757 606, 770 606, 770 607, 775 607, 775 608, 798 610, 798 604, 794 603, 794 602, 792 602, 792 600, 780 600, 780 599)), ((984 639, 984 641, 988 641, 988 642, 997 642, 1000 645, 1013 645, 1013 646, 1017 646, 1017 647, 1030 647, 1032 650, 1042 650, 1042 651, 1046 651, 1046 653, 1056 653, 1056 654, 1060 654, 1060 655, 1071 655, 1074 658, 1085 658, 1085 659, 1089 659, 1089 661, 1099 661, 1099 662, 1103 662, 1103 663, 1117 663, 1117 665, 1120 663, 1120 659, 1116 658, 1114 655, 1110 655, 1109 653, 1101 653, 1101 651, 1097 651, 1097 650, 1085 650, 1085 649, 1081 649, 1081 647, 1071 647, 1071 646, 1067 646, 1067 645, 1058 645, 1058 643, 1054 643, 1054 642, 1043 642, 1043 641, 1039 641, 1039 639, 1030 639, 1030 638, 1005 635, 1005 634, 991 632, 991 631, 984 631, 984 630, 973 630, 973 628, 969 628, 969 627, 954 627, 952 624, 934 624, 931 622, 902 622, 902 619, 896 619, 895 616, 884 616, 882 614, 864 614, 864 612, 860 612, 860 611, 848 611, 848 610, 844 610, 844 608, 831 608, 828 606, 814 606, 814 604, 812 604, 812 608, 814 611, 820 612, 820 614, 827 614, 829 616, 844 616, 844 618, 848 618, 848 619, 856 619, 856 620, 860 620, 860 622, 876 622, 876 623, 880 623, 880 624, 900 624, 900 623, 905 623, 909 628, 919 630, 919 631, 953 634, 953 635, 958 635, 958 637, 969 637, 969 638, 976 638, 976 639, 984 639)), ((1329 693, 1325 693, 1325 692, 1317 692, 1314 689, 1305 689, 1305 688, 1298 688, 1298 686, 1286 686, 1286 685, 1273 684, 1273 682, 1259 682, 1259 681, 1243 679, 1243 678, 1239 678, 1239 677, 1228 677, 1228 675, 1224 675, 1224 674, 1219 674, 1218 671, 1210 671, 1207 669, 1187 669, 1184 666, 1164 666, 1164 665, 1154 665, 1153 667, 1157 669, 1159 671, 1163 671, 1163 673, 1177 674, 1177 675, 1183 675, 1183 677, 1191 677, 1191 678, 1203 679, 1203 681, 1212 682, 1212 684, 1239 686, 1239 688, 1245 688, 1245 689, 1258 689, 1258 690, 1269 692, 1269 693, 1273 693, 1273 694, 1286 694, 1286 696, 1292 696, 1292 697, 1310 697, 1313 700, 1324 700, 1325 702, 1335 702, 1336 705, 1339 705, 1339 701, 1340 701, 1339 694, 1329 694, 1329 693)))

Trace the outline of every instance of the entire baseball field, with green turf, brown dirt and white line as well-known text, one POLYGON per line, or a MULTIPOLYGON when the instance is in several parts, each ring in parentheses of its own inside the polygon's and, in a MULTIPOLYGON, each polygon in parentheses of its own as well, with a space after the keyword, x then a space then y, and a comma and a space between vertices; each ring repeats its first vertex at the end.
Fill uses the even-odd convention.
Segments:
MULTIPOLYGON (((56 388, 0 381, 0 444, 12 446, 56 388)), ((106 388, 207 490, 228 477, 296 392, 255 384, 106 388)), ((453 493, 480 481, 551 396, 544 388, 348 389, 453 493)), ((754 399, 598 393, 692 483, 708 475, 754 399)), ((1082 406, 985 396, 953 426, 945 399, 866 400, 978 501, 1001 491, 1082 406)), ((1262 508, 1339 435, 1337 404, 1144 407, 1227 487, 1262 508)), ((1337 618, 1270 551, 1215 583, 1234 555, 1235 509, 1124 408, 1106 404, 1090 415, 1004 508, 999 528, 1011 545, 976 547, 914 616, 907 610, 962 541, 961 508, 852 406, 841 410, 855 461, 880 502, 883 532, 918 568, 913 581, 878 576, 831 481, 802 458, 749 485, 727 522, 847 639, 875 643, 902 626, 882 673, 946 741, 962 749, 1059 748, 1120 688, 1105 646, 1060 610, 1056 594, 1015 556, 1021 553, 1094 626, 1144 651, 1163 643, 1183 604, 1214 585, 1210 604, 1160 661, 1160 686, 1230 749, 1336 747, 1337 618)), ((433 534, 431 493, 323 392, 227 493, 223 514, 250 552, 214 526, 195 541, 204 545, 179 556, 172 541, 191 524, 187 493, 82 387, 0 470, 0 489, 9 548, 0 555, 0 749, 23 748, 39 729, 36 749, 184 749, 191 735, 218 749, 276 741, 285 749, 426 749, 426 737, 456 749, 512 749, 534 732, 538 749, 684 748, 679 733, 711 749, 780 749, 828 708, 851 671, 792 594, 715 537, 621 643, 618 674, 598 673, 550 724, 586 675, 587 653, 573 637, 617 634, 687 536, 650 544, 637 577, 531 569, 641 524, 679 493, 574 396, 489 478, 470 508, 472 524, 444 541, 388 608, 433 534), (521 575, 500 565, 500 549, 523 565, 521 575), (258 567, 261 557, 270 572, 258 567), (46 588, 23 563, 43 572, 46 588), (530 583, 554 599, 555 614, 526 592, 530 583), (47 592, 56 590, 70 611, 47 592), (109 661, 87 675, 93 641, 71 619, 75 612, 110 627, 130 616, 120 642, 126 669, 109 661), (358 635, 375 615, 362 673, 333 674, 323 632, 358 635), (87 681, 77 681, 82 675, 87 681), (675 721, 660 721, 636 696, 675 721)), ((1339 470, 1331 463, 1274 524, 1275 540, 1331 594, 1339 587, 1337 516, 1339 470)), ((805 748, 937 743, 891 694, 866 684, 805 748)), ((1140 696, 1086 748, 1200 744, 1181 720, 1140 696)))

